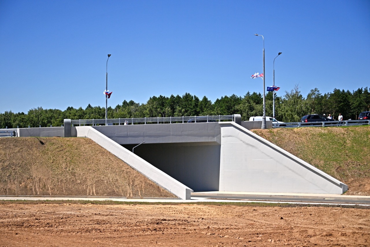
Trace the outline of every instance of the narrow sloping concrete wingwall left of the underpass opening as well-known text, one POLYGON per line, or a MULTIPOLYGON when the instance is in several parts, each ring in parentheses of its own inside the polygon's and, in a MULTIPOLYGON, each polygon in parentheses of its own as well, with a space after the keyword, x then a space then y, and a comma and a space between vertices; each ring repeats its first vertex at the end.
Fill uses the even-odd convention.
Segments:
POLYGON ((77 137, 87 137, 92 139, 94 142, 107 149, 118 158, 122 159, 131 167, 137 169, 139 172, 147 176, 152 181, 156 182, 158 185, 162 186, 163 188, 167 189, 168 191, 174 193, 184 200, 190 200, 191 192, 193 192, 191 188, 165 174, 158 168, 149 164, 144 159, 128 151, 117 142, 101 134, 99 131, 95 130, 91 126, 78 126, 75 128, 77 132, 77 137))

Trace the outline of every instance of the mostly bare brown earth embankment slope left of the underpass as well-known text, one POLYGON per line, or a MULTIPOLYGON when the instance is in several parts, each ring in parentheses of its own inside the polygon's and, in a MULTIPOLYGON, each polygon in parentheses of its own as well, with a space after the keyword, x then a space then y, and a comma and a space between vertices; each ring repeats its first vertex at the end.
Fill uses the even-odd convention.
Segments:
POLYGON ((1 195, 175 197, 88 138, 0 138, 1 195))

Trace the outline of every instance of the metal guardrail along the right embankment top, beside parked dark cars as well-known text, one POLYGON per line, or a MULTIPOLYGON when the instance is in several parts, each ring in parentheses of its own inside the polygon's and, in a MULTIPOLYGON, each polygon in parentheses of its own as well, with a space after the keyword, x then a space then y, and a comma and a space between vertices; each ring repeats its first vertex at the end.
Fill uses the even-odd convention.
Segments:
POLYGON ((292 123, 273 123, 273 128, 299 128, 299 127, 330 127, 330 126, 354 126, 370 125, 370 120, 346 120, 330 122, 292 122, 292 123))

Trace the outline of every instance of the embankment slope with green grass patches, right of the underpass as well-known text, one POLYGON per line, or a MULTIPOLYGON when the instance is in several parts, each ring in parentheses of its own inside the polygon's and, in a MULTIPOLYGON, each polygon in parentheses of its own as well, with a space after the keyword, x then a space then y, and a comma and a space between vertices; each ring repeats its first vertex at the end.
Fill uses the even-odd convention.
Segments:
POLYGON ((369 125, 253 132, 347 184, 346 195, 370 195, 369 125))

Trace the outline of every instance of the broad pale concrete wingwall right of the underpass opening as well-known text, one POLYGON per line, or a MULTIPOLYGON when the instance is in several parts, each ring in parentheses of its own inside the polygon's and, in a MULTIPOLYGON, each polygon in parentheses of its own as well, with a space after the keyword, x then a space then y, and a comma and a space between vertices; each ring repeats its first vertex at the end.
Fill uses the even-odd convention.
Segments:
POLYGON ((221 125, 220 191, 342 194, 348 186, 233 122, 221 125))

